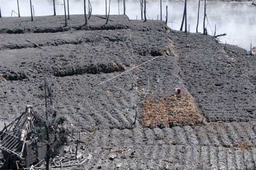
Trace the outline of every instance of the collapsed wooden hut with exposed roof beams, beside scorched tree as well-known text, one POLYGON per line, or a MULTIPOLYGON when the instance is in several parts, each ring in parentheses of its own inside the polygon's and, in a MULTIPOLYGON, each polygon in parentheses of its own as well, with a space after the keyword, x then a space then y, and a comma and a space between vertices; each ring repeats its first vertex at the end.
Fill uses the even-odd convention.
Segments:
POLYGON ((27 105, 26 110, 0 132, 0 149, 5 159, 1 169, 29 167, 44 159, 45 146, 38 145, 33 132, 35 127, 41 126, 44 118, 32 108, 32 105, 27 105))

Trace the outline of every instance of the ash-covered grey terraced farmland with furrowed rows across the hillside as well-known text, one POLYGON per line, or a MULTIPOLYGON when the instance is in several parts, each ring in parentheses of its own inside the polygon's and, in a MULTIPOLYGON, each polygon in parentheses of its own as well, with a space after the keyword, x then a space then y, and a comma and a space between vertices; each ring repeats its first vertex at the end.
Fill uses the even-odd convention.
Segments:
POLYGON ((26 104, 43 113, 45 76, 54 107, 82 129, 86 168, 253 168, 255 56, 161 21, 110 19, 2 18, 1 119, 26 104))

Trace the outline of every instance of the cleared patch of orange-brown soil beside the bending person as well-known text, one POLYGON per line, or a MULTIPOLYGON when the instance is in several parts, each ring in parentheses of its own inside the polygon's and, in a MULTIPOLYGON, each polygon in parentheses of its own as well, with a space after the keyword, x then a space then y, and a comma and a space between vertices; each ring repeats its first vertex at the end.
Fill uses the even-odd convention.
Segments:
POLYGON ((185 125, 198 125, 203 116, 195 106, 189 94, 170 96, 168 98, 146 98, 143 103, 142 116, 145 127, 173 127, 185 125))

